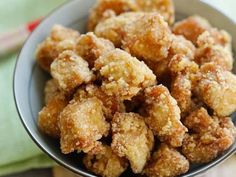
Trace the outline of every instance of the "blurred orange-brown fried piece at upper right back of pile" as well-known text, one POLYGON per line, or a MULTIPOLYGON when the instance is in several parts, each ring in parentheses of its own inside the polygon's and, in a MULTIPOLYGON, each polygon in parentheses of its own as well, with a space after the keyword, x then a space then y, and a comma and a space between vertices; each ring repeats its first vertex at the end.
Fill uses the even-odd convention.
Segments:
POLYGON ((175 23, 172 31, 174 34, 183 35, 196 45, 198 36, 210 28, 211 25, 205 18, 194 15, 175 23))

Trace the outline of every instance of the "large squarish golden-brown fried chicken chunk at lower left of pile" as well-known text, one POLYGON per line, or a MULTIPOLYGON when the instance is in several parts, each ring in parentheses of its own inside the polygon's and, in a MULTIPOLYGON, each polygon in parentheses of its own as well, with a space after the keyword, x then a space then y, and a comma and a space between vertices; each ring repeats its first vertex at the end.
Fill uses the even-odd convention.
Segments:
POLYGON ((82 150, 96 154, 104 150, 98 140, 108 135, 110 125, 105 121, 102 102, 97 98, 82 102, 72 100, 61 112, 59 125, 62 153, 82 150))

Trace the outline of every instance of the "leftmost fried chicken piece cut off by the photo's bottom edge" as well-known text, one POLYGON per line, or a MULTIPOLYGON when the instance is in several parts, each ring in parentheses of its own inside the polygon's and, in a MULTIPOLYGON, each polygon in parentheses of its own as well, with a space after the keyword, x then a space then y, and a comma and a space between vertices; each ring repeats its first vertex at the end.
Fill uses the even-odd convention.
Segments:
POLYGON ((117 156, 107 145, 103 153, 85 154, 83 163, 89 171, 102 177, 119 177, 128 167, 126 159, 117 156))

